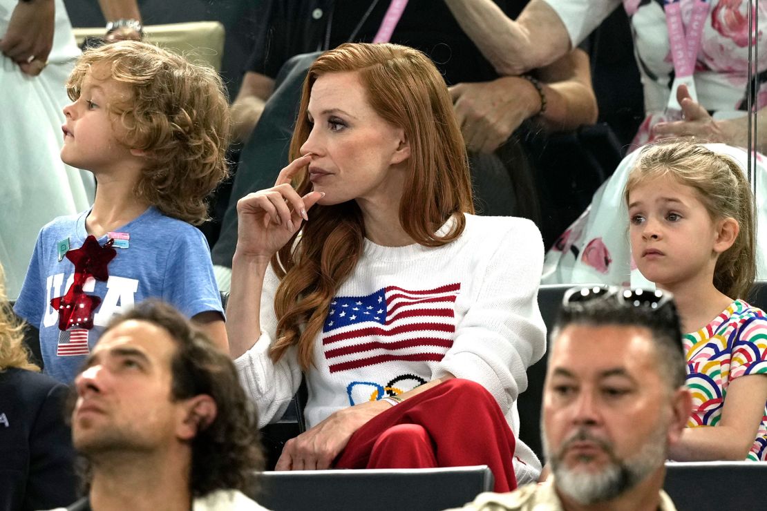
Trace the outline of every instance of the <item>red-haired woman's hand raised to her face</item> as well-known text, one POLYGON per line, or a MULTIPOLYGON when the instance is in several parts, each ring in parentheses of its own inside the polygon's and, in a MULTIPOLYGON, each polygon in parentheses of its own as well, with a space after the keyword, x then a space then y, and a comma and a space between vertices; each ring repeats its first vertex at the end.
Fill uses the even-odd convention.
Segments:
POLYGON ((291 179, 308 165, 311 153, 293 160, 272 188, 260 190, 237 201, 237 253, 270 259, 308 220, 307 211, 324 193, 309 192, 303 197, 295 192, 291 179))

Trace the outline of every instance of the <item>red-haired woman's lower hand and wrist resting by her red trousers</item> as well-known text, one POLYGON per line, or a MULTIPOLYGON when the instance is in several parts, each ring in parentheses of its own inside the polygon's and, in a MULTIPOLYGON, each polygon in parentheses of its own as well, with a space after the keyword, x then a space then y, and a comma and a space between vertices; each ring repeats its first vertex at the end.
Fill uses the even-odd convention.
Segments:
POLYGON ((369 401, 336 411, 309 431, 291 438, 282 449, 275 470, 324 470, 344 450, 351 435, 367 421, 391 408, 385 401, 369 401))

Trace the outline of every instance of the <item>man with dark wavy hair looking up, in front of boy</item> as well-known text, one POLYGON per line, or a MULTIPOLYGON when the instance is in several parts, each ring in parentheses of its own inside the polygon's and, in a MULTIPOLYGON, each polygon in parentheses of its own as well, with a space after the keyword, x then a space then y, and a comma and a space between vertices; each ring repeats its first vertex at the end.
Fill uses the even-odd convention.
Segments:
POLYGON ((262 457, 237 372, 171 306, 110 323, 75 388, 90 492, 68 509, 263 509, 239 491, 262 457))

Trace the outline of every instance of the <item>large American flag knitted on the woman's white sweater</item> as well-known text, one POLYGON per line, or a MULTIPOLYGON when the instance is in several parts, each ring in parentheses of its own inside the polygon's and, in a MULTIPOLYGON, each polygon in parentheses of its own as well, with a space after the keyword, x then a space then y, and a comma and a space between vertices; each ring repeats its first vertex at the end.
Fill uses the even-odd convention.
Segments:
POLYGON ((322 329, 330 372, 390 361, 439 362, 453 346, 461 284, 430 290, 384 287, 337 296, 322 329))

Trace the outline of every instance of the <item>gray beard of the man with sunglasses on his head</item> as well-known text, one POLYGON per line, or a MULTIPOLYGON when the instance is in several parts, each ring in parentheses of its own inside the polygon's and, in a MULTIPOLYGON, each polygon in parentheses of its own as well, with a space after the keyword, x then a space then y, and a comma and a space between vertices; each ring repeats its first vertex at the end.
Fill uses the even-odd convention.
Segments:
POLYGON ((558 454, 550 454, 544 435, 544 450, 546 458, 551 464, 551 472, 554 473, 555 486, 561 493, 565 493, 572 500, 584 506, 613 500, 644 480, 666 460, 667 425, 660 424, 660 426, 647 437, 647 441, 637 454, 624 460, 619 460, 615 456, 610 444, 592 437, 585 430, 578 431, 578 434, 571 437, 568 442, 574 440, 597 441, 610 457, 610 463, 597 473, 589 473, 578 467, 565 467, 561 462, 561 451, 567 447, 568 442, 565 442, 563 449, 558 454))

